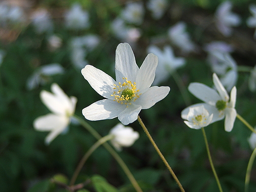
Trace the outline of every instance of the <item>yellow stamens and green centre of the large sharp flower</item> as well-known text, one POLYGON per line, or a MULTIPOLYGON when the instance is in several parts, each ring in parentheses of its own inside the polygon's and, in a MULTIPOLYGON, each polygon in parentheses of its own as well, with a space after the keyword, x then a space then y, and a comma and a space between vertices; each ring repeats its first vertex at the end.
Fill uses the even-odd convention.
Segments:
POLYGON ((127 77, 123 77, 124 83, 119 82, 118 85, 114 84, 114 91, 111 96, 114 96, 114 101, 121 104, 131 104, 131 101, 136 101, 141 94, 138 94, 139 90, 136 88, 136 83, 127 80, 127 77))

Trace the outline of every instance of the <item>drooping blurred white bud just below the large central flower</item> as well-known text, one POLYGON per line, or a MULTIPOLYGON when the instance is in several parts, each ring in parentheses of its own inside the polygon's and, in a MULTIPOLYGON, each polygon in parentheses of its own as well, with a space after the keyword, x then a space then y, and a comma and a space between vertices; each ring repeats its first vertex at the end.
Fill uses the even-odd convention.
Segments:
POLYGON ((122 147, 130 147, 139 138, 139 133, 137 131, 134 131, 130 127, 125 127, 121 123, 112 128, 109 134, 115 136, 111 139, 111 144, 118 151, 121 151, 122 147))

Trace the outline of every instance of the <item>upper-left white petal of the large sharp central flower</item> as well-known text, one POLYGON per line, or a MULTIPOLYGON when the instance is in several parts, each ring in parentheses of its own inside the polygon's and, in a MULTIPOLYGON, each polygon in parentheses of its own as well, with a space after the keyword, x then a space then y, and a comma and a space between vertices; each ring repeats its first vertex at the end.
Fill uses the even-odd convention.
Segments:
POLYGON ((116 84, 116 81, 112 77, 89 64, 86 65, 81 72, 84 78, 99 95, 113 99, 110 95, 113 94, 113 87, 114 84, 116 84))

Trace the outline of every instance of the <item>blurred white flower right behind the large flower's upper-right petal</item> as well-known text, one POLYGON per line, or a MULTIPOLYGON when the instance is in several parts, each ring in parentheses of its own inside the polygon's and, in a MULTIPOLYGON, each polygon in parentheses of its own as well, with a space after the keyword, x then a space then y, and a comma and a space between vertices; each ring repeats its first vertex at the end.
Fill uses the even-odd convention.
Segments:
POLYGON ((176 58, 170 46, 165 46, 163 51, 161 51, 158 47, 152 45, 148 48, 148 53, 158 56, 154 85, 166 80, 176 68, 183 66, 186 62, 184 58, 176 58))

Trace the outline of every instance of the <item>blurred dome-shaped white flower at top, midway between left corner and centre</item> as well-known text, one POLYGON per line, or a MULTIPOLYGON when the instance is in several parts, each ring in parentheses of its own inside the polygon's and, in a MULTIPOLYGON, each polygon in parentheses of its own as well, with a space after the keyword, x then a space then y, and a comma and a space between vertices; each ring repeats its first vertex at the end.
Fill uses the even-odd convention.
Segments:
POLYGON ((80 4, 75 3, 72 5, 65 15, 65 25, 69 29, 81 30, 87 29, 89 24, 89 14, 87 11, 83 11, 80 4))

